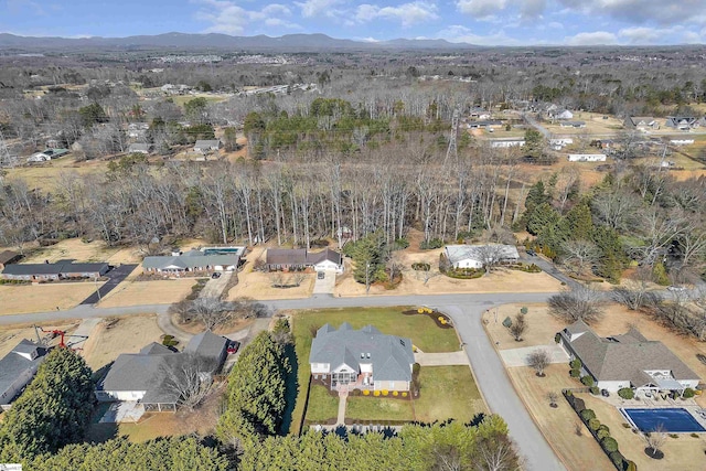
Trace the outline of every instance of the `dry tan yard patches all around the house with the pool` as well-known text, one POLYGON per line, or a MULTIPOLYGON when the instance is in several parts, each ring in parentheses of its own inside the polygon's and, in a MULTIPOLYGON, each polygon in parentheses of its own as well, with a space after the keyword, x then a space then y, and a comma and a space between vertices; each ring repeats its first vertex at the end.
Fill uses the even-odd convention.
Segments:
MULTIPOLYGON (((548 314, 546 307, 543 304, 527 304, 527 321, 530 327, 524 334, 525 340, 521 343, 515 343, 512 340, 507 330, 503 328, 500 322, 502 322, 506 315, 514 315, 521 307, 521 304, 500 307, 498 309, 498 324, 494 322, 494 310, 484 314, 484 320, 486 321, 485 330, 491 341, 493 343, 500 342, 498 345, 500 350, 554 343, 554 334, 564 329, 566 323, 548 314)), ((700 377, 706 378, 706 365, 700 363, 696 357, 698 353, 706 354, 706 345, 694 339, 676 335, 646 318, 644 314, 630 311, 621 306, 609 304, 603 319, 592 325, 592 328, 599 335, 607 336, 616 333, 624 333, 630 325, 637 325, 645 338, 663 342, 700 377)), ((579 419, 569 408, 566 400, 560 398, 557 409, 552 409, 548 406, 546 393, 549 390, 559 393, 563 387, 580 386, 576 379, 568 376, 568 365, 552 365, 546 373, 546 377, 539 378, 535 376, 534 370, 530 367, 507 368, 507 374, 513 382, 515 390, 525 403, 535 422, 569 469, 602 469, 602 464, 600 463, 603 461, 605 465, 607 465, 606 469, 611 469, 610 462, 607 459, 603 460, 605 454, 588 435, 588 430, 584 426, 581 426, 581 437, 575 433, 575 424, 579 422, 579 419), (596 450, 595 453, 581 451, 593 448, 596 450), (587 456, 593 457, 596 464, 589 465, 589 463, 586 462, 587 456)), ((601 422, 610 427, 611 433, 613 433, 618 440, 623 454, 635 461, 639 469, 654 469, 655 462, 642 452, 644 448, 642 440, 629 429, 622 427, 624 420, 620 413, 614 407, 598 398, 590 397, 590 395, 586 396, 588 396, 586 398, 587 407, 593 408, 601 422)), ((704 396, 697 396, 696 400, 702 407, 706 405, 706 398, 704 398, 704 396)), ((665 470, 684 469, 685 463, 697 462, 697 457, 700 457, 699 459, 703 460, 704 449, 706 449, 704 437, 695 439, 682 433, 678 439, 667 440, 665 459, 659 462, 659 467, 665 470), (670 461, 667 461, 666 456, 672 457, 670 461), (685 458, 681 459, 677 457, 685 458)))

